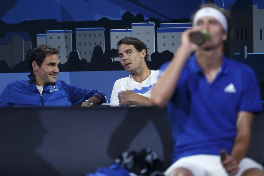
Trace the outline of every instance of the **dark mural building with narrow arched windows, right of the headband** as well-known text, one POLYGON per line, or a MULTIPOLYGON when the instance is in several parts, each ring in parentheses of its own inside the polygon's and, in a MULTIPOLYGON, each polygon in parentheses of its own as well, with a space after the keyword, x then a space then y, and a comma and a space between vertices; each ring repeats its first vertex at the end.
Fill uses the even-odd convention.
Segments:
MULTIPOLYGON (((264 9, 257 5, 229 6, 232 20, 232 37, 229 42, 229 57, 241 53, 264 53, 264 9)), ((244 58, 246 59, 246 57, 244 58)))

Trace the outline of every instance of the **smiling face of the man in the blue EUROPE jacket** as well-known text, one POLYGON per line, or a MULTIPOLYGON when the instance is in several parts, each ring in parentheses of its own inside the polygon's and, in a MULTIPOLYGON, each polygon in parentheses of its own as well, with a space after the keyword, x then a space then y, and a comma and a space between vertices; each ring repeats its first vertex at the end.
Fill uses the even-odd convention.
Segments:
POLYGON ((60 59, 57 54, 47 55, 41 67, 34 61, 32 63, 33 73, 35 75, 35 83, 37 86, 45 84, 54 84, 57 82, 57 74, 59 71, 60 59))

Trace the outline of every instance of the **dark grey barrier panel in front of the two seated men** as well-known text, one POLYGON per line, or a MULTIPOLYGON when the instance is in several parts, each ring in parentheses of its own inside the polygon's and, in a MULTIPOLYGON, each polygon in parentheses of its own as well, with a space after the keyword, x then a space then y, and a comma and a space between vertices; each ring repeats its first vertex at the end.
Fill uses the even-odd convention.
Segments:
MULTIPOLYGON (((165 109, 0 109, 0 175, 84 176, 123 151, 151 148, 168 167, 173 142, 165 109)), ((255 116, 248 156, 264 161, 264 113, 255 116)))

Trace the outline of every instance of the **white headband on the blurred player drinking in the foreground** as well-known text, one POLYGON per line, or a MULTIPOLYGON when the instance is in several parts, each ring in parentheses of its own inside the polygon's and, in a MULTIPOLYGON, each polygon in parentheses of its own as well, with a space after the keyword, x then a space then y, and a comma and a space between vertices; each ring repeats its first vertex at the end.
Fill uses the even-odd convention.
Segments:
POLYGON ((213 17, 219 21, 222 28, 228 34, 228 24, 226 16, 218 9, 213 7, 204 7, 196 12, 193 19, 193 27, 196 25, 197 21, 202 17, 213 17))

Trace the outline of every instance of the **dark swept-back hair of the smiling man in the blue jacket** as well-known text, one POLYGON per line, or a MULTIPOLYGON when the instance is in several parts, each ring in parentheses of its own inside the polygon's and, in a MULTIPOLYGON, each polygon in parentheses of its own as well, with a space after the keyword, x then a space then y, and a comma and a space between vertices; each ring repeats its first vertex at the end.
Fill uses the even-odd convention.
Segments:
POLYGON ((41 67, 44 59, 48 55, 53 55, 53 54, 58 54, 59 50, 57 48, 51 47, 49 45, 39 45, 35 47, 33 50, 28 55, 28 64, 29 64, 29 70, 30 73, 33 73, 33 67, 32 67, 32 62, 36 61, 37 66, 41 67))

